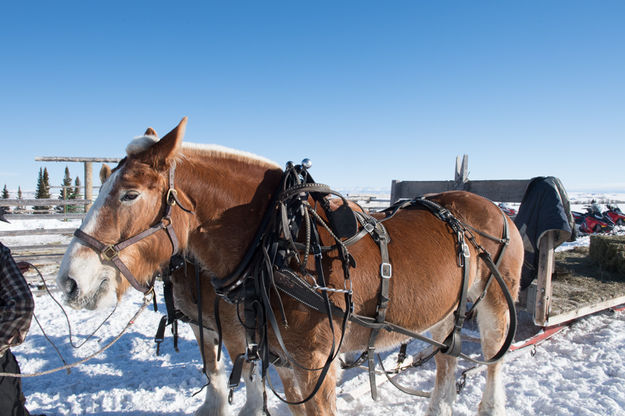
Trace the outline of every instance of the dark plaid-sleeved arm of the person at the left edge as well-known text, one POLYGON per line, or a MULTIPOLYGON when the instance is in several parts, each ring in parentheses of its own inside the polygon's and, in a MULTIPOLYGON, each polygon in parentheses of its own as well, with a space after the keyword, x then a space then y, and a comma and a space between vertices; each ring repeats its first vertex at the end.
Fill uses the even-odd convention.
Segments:
POLYGON ((24 341, 35 303, 11 251, 0 244, 0 356, 24 341))

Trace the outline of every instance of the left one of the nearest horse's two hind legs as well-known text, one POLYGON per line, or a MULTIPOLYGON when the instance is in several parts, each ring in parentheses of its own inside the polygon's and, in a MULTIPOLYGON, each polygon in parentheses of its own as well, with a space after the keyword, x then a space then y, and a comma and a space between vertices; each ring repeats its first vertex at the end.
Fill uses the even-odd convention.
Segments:
MULTIPOLYGON (((453 328, 453 315, 430 329, 432 337, 443 342, 453 328)), ((427 415, 451 416, 453 403, 456 400, 456 363, 458 359, 439 352, 434 356, 436 362, 436 381, 427 415)))

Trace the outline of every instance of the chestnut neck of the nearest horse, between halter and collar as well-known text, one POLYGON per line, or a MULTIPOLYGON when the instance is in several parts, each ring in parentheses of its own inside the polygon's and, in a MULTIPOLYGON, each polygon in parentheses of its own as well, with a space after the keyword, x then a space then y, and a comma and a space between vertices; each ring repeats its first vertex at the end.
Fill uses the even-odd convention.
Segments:
POLYGON ((226 276, 254 238, 282 171, 215 158, 188 164, 184 174, 196 214, 188 249, 212 273, 226 276))

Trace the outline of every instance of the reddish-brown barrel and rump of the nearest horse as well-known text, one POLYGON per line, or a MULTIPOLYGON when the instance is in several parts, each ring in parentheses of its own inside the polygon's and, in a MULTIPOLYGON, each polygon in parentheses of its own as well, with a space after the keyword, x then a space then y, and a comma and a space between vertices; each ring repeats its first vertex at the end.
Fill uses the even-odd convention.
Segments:
MULTIPOLYGON (((514 223, 494 203, 469 192, 444 192, 428 199, 450 210, 463 223, 496 238, 503 236, 503 222, 508 222, 510 244, 500 267, 516 297, 523 248, 514 223)), ((384 226, 390 236, 388 250, 393 267, 387 318, 414 330, 426 330, 452 313, 458 303, 463 270, 458 262, 457 236, 445 222, 418 205, 401 209, 384 226)), ((499 243, 478 234, 474 236, 478 244, 496 257, 499 243)), ((474 282, 476 276, 487 276, 488 270, 478 259, 476 249, 468 245, 474 282)), ((356 244, 350 252, 357 263, 353 273, 357 312, 371 316, 380 288, 379 249, 368 241, 356 244)))

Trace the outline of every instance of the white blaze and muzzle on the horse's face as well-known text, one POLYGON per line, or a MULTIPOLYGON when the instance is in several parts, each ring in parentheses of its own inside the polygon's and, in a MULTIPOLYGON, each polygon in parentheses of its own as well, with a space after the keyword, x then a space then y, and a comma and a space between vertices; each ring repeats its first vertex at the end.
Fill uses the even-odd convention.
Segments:
MULTIPOLYGON (((113 189, 118 172, 113 173, 103 184, 98 198, 87 213, 81 226, 85 233, 92 235, 97 227, 103 226, 98 224, 99 212, 113 189)), ((63 256, 57 284, 71 306, 95 309, 117 301, 117 274, 114 266, 102 263, 98 253, 74 237, 63 256), (76 288, 73 288, 72 281, 76 288)))

